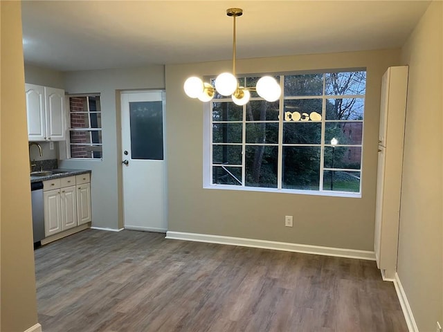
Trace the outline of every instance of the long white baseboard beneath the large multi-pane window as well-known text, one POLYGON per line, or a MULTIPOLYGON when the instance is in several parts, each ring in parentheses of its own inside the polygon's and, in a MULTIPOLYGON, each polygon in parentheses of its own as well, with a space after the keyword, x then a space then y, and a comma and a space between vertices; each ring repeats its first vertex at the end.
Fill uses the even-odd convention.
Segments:
POLYGON ((229 244, 231 246, 244 246, 252 248, 303 252, 305 254, 367 259, 370 261, 375 260, 375 253, 373 251, 309 246, 307 244, 244 239, 242 237, 223 237, 219 235, 168 231, 166 232, 166 239, 229 244))

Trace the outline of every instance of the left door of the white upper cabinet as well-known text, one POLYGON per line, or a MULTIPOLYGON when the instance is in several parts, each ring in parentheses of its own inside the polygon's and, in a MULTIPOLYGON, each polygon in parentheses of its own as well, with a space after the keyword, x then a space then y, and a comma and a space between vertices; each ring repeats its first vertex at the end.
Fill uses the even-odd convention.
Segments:
POLYGON ((25 84, 26 113, 28 116, 28 140, 46 140, 44 114, 44 87, 25 84))

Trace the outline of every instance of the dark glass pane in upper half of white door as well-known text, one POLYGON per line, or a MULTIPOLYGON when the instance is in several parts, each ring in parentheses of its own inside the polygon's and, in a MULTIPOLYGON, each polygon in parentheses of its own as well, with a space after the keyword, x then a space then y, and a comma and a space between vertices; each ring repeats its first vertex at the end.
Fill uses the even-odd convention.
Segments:
POLYGON ((162 102, 129 102, 132 159, 163 160, 162 102))

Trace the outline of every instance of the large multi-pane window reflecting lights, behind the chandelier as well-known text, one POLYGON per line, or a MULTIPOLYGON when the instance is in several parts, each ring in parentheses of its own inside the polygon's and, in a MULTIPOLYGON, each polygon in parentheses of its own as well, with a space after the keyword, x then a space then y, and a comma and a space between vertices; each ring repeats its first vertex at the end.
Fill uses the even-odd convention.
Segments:
POLYGON ((365 71, 275 78, 276 102, 210 103, 210 185, 359 194, 365 71))

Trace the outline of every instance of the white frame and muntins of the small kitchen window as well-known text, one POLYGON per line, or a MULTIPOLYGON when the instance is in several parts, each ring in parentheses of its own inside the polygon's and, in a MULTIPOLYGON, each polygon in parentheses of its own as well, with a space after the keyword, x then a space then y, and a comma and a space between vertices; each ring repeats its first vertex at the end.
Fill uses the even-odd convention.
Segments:
MULTIPOLYGON (((101 127, 91 127, 91 114, 99 114, 100 113, 100 118, 102 115, 102 107, 101 107, 101 95, 100 93, 76 93, 76 94, 69 94, 66 95, 66 159, 69 160, 102 160, 103 159, 103 138, 101 137, 101 142, 91 142, 91 143, 71 143, 71 132, 75 132, 75 131, 87 131, 89 132, 89 134, 91 135, 93 132, 97 132, 97 133, 102 133, 102 125, 101 127), (90 111, 89 109, 89 98, 99 98, 100 100, 100 111, 90 111), (71 98, 87 98, 87 111, 78 111, 78 112, 71 112, 71 105, 70 105, 70 99, 71 98), (71 114, 87 114, 88 115, 88 122, 89 122, 89 127, 71 127, 71 114), (71 147, 74 145, 78 145, 78 146, 89 146, 91 147, 90 151, 91 154, 93 154, 93 147, 100 147, 100 158, 93 158, 91 157, 73 157, 71 156, 71 147)), ((100 124, 101 124, 101 120, 100 120, 100 124)), ((91 140, 93 140, 93 138, 91 137, 91 140)))

